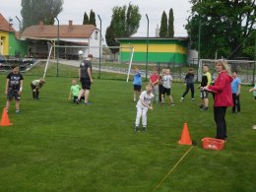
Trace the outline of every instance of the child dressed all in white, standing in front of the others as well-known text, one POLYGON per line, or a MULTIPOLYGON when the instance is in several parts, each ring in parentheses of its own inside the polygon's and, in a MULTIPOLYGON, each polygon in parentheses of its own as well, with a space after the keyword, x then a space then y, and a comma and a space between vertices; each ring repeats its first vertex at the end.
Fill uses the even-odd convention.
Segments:
POLYGON ((148 109, 153 110, 152 85, 147 84, 146 91, 142 92, 140 99, 137 102, 137 115, 135 120, 135 131, 139 131, 140 120, 142 117, 143 131, 147 130, 147 112, 148 109))

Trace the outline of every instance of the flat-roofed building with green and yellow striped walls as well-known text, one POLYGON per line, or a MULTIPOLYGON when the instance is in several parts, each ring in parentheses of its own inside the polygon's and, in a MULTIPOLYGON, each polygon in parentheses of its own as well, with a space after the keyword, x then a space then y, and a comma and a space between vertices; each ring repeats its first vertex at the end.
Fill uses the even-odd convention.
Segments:
POLYGON ((187 37, 128 37, 116 38, 116 40, 120 43, 120 47, 124 47, 119 52, 121 62, 130 60, 131 51, 127 47, 133 47, 133 62, 135 63, 147 61, 147 49, 149 63, 187 63, 187 37))

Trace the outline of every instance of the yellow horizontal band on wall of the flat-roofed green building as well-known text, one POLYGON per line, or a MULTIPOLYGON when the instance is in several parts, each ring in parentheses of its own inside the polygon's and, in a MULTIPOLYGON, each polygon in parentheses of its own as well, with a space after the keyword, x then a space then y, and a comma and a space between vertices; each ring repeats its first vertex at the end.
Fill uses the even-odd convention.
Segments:
MULTIPOLYGON (((122 47, 129 47, 131 44, 122 44, 122 47)), ((132 44, 135 52, 146 52, 146 44, 132 44)), ((125 51, 125 50, 122 50, 125 51)), ((187 49, 178 44, 149 44, 149 52, 172 52, 187 54, 187 49)))

